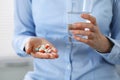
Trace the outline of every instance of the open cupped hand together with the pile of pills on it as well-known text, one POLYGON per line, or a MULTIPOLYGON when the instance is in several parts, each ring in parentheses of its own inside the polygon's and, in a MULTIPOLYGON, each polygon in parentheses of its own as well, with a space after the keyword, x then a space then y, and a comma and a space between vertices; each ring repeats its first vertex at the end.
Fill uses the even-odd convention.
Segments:
POLYGON ((25 45, 25 51, 34 58, 58 58, 57 49, 50 42, 43 38, 30 38, 25 45))

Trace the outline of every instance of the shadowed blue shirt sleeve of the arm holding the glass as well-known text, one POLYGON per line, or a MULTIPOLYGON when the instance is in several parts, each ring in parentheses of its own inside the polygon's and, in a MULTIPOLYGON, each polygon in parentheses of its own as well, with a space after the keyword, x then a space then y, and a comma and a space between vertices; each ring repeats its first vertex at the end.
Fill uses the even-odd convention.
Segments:
MULTIPOLYGON (((114 0, 115 1, 115 0, 114 0)), ((102 53, 105 60, 112 64, 120 64, 120 0, 116 0, 113 7, 113 19, 110 26, 111 36, 108 37, 114 43, 110 53, 102 53)))

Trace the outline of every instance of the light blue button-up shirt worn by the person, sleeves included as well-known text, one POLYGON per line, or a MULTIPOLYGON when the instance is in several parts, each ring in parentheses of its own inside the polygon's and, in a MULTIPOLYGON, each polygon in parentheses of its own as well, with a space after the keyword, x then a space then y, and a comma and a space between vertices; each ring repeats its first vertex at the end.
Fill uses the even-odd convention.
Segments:
POLYGON ((24 44, 30 37, 43 37, 57 49, 58 59, 34 58, 34 71, 25 80, 120 80, 115 65, 120 64, 120 1, 94 0, 92 15, 102 34, 114 46, 102 54, 68 39, 65 0, 15 0, 13 47, 20 56, 28 56, 24 44))

